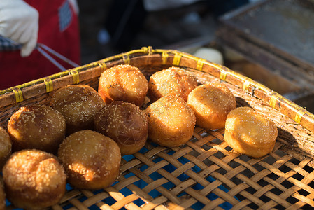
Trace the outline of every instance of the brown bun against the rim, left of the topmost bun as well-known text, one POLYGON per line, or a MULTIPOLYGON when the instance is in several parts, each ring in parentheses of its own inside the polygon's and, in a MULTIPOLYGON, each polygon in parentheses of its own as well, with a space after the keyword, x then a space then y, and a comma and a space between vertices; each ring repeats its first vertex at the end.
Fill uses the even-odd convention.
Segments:
POLYGON ((88 85, 68 85, 60 88, 50 106, 64 116, 66 136, 79 130, 94 128, 94 115, 105 103, 96 90, 88 85))

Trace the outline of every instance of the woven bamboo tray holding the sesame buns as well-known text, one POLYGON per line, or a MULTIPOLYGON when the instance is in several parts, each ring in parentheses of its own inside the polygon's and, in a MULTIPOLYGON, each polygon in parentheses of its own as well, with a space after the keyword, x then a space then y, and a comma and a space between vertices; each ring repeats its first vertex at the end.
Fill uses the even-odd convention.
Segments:
MULTIPOLYGON (((184 146, 148 144, 122 158, 119 180, 104 190, 68 186, 52 209, 306 209, 314 207, 314 116, 250 78, 176 50, 141 48, 0 92, 1 126, 27 104, 48 104, 65 85, 97 90, 102 71, 117 64, 137 66, 147 78, 169 66, 190 71, 199 83, 222 82, 238 106, 251 106, 278 126, 272 153, 238 154, 223 141, 224 129, 195 127, 184 146)), ((13 209, 12 206, 8 207, 13 209)))

